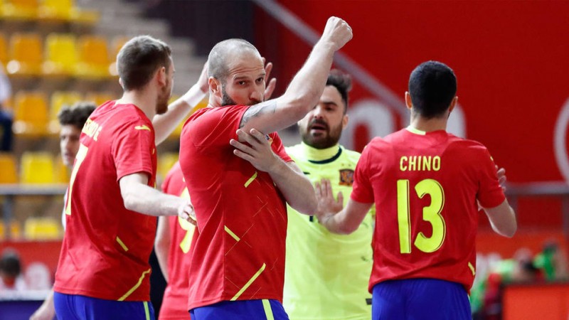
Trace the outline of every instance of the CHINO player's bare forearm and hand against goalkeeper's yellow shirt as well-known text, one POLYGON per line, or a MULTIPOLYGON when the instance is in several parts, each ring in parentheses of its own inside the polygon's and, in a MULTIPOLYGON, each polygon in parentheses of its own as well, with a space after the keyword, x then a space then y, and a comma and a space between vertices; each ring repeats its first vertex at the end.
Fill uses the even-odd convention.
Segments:
POLYGON ((317 182, 315 188, 318 199, 317 218, 331 233, 349 235, 358 230, 363 218, 366 218, 366 214, 373 206, 373 203, 361 203, 349 199, 346 207, 342 208, 344 196, 338 193, 337 198, 334 198, 328 179, 317 182))

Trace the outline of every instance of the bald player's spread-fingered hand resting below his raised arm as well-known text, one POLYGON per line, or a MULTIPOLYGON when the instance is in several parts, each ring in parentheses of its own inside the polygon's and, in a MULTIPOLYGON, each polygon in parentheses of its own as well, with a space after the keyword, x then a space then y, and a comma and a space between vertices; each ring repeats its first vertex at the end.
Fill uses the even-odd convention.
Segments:
POLYGON ((249 133, 242 129, 237 130, 239 142, 235 139, 230 140, 230 144, 235 147, 233 154, 245 161, 249 161, 255 169, 265 172, 275 170, 280 162, 280 158, 272 151, 270 138, 251 129, 249 133))

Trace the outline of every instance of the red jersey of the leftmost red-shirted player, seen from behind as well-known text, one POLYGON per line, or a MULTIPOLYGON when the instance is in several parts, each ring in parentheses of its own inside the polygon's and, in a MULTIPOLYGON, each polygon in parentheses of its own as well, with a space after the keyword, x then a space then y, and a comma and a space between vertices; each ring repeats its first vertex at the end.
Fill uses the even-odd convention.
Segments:
POLYGON ((106 102, 87 119, 65 204, 55 292, 149 300, 156 218, 124 208, 119 179, 144 172, 154 187, 154 139, 152 123, 135 105, 106 102))

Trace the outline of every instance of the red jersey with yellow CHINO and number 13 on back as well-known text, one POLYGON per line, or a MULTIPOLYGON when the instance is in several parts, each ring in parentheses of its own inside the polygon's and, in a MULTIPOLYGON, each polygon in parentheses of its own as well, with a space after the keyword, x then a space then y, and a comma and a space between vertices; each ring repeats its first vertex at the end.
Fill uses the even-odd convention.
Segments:
POLYGON ((370 291, 389 279, 472 286, 477 201, 494 208, 505 199, 486 147, 444 130, 403 129, 363 149, 354 180, 351 198, 376 203, 370 291))

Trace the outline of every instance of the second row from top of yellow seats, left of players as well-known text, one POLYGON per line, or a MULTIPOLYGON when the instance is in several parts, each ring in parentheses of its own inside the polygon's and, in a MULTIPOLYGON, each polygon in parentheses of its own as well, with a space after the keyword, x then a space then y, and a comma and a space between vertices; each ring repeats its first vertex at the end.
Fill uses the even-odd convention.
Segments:
POLYGON ((65 76, 100 80, 117 75, 115 58, 127 39, 115 38, 112 54, 104 36, 14 33, 6 43, 0 36, 0 61, 11 76, 65 76))

